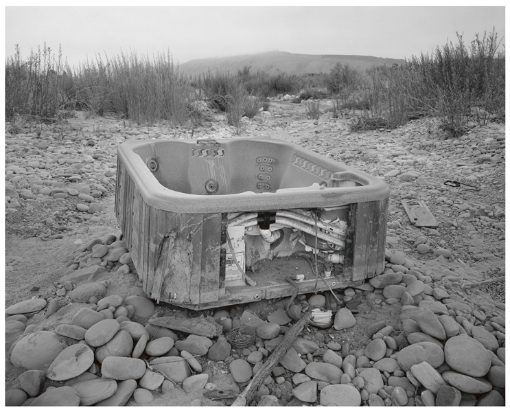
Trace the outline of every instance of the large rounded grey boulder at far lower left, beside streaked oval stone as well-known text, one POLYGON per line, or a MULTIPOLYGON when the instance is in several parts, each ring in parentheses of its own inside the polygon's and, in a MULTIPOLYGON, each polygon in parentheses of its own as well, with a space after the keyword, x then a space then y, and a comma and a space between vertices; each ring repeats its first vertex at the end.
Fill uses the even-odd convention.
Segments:
POLYGON ((62 350, 64 347, 58 334, 40 330, 23 336, 16 343, 11 362, 25 369, 47 369, 62 350))

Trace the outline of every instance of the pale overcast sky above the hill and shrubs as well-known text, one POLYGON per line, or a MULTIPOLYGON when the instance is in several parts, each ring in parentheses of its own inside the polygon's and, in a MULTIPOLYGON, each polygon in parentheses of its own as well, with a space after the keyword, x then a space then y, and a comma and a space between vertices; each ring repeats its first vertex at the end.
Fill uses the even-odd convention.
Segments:
POLYGON ((5 54, 46 42, 71 66, 130 49, 180 63, 270 50, 410 58, 492 27, 505 36, 504 7, 7 7, 5 54))

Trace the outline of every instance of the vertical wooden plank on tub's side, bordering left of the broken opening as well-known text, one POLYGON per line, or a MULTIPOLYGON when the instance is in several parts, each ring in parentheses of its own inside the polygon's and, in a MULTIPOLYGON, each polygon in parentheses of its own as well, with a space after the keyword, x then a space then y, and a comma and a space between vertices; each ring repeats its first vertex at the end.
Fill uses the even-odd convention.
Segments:
POLYGON ((217 301, 219 299, 221 234, 222 215, 204 215, 200 303, 217 301))

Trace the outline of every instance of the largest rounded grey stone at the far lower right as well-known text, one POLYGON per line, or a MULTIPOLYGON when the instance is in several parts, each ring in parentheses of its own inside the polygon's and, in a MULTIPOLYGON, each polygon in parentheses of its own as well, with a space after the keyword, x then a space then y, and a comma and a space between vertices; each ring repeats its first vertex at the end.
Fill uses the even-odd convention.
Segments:
POLYGON ((487 374, 491 356, 476 339, 467 335, 453 336, 445 343, 445 362, 455 371, 474 378, 487 374))

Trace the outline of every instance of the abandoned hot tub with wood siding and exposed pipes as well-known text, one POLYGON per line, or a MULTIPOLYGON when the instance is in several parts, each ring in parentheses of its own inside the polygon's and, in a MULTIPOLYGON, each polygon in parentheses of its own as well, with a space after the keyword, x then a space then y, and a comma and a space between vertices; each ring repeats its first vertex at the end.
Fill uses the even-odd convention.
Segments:
POLYGON ((278 139, 138 140, 117 155, 115 215, 158 302, 201 310, 290 296, 289 277, 310 293, 384 271, 389 187, 375 176, 278 139))

